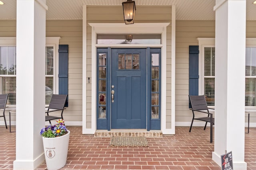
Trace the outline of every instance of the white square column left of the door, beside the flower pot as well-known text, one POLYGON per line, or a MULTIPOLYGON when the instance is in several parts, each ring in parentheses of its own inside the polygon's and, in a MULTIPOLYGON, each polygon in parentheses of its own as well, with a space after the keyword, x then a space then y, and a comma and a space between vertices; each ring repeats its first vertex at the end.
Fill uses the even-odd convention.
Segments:
POLYGON ((33 170, 44 161, 46 10, 46 0, 17 0, 14 170, 33 170))

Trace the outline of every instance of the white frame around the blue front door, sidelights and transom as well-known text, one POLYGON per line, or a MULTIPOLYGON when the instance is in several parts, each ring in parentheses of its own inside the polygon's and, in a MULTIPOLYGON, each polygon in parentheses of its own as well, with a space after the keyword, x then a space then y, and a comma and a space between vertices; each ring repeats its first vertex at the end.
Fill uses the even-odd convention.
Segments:
MULTIPOLYGON (((125 23, 88 23, 92 27, 92 105, 91 105, 91 129, 86 128, 86 103, 83 100, 83 133, 94 134, 96 131, 96 48, 98 47, 157 47, 161 48, 161 130, 164 134, 167 130, 170 133, 170 129, 166 129, 166 27, 170 23, 134 23, 126 25, 125 23), (116 45, 98 45, 96 44, 96 35, 98 33, 104 34, 161 34, 162 43, 159 45, 152 44, 116 44, 116 45)), ((86 48, 83 47, 83 48, 86 48)), ((86 56, 86 55, 85 55, 86 56)), ((83 58, 83 79, 86 79, 86 58, 83 58), (84 69, 85 67, 85 69, 84 69)), ((175 63, 172 63, 175 65, 175 63)), ((86 80, 83 80, 86 82, 86 80)), ((175 86, 175 84, 174 84, 175 86)), ((83 83, 83 99, 86 98, 86 83, 83 83), (85 90, 84 90, 85 89, 85 90), (84 93, 85 92, 85 93, 84 93)), ((174 112, 174 111, 172 111, 174 112)), ((173 115, 173 113, 172 113, 173 115)), ((175 113, 174 113, 175 115, 175 113)), ((175 116, 174 116, 175 117, 175 116)), ((172 122, 175 124, 175 122, 172 122)))

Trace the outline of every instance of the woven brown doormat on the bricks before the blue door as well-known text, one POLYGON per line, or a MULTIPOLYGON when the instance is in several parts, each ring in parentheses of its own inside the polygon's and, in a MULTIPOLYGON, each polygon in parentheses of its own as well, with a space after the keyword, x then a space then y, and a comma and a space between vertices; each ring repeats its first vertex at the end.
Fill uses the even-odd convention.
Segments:
POLYGON ((110 147, 148 147, 148 141, 145 137, 113 136, 110 139, 110 147))

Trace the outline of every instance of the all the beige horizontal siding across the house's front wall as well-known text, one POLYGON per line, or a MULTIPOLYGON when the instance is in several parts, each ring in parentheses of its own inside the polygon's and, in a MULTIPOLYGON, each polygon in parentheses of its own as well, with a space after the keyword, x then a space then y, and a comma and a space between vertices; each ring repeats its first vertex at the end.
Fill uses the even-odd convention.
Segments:
MULTIPOLYGON (((154 15, 161 16, 159 20, 152 22, 171 22, 171 10, 169 6, 137 6, 136 22, 151 22, 154 15), (148 14, 150 13, 150 14, 148 14), (146 15, 148 14, 148 15, 146 15), (146 16, 145 18, 142 18, 146 16)), ((117 6, 88 6, 88 22, 123 22, 122 8, 117 6), (100 17, 98 16, 99 14, 100 17), (119 15, 117 20, 111 18, 111 14, 119 15), (104 16, 104 18, 102 18, 104 16), (97 18, 98 17, 98 18, 97 18), (94 20, 95 19, 95 20, 94 20), (104 20, 103 20, 104 19, 104 20)), ((176 121, 191 121, 191 111, 188 109, 188 46, 198 45, 197 37, 215 37, 215 21, 176 21, 176 121)), ((167 70, 171 74, 171 26, 167 32, 167 70)), ((246 37, 256 37, 256 21, 246 22, 246 37)), ((87 75, 91 77, 91 27, 87 27, 87 75)), ((0 36, 15 37, 16 21, 1 20, 0 36)), ((48 20, 46 21, 46 36, 60 36, 60 44, 69 45, 69 107, 64 111, 66 121, 82 121, 82 20, 48 20)), ((170 76, 167 76, 170 78, 170 76)), ((91 115, 91 85, 87 84, 87 116, 91 115)), ((171 125, 171 81, 166 84, 166 112, 167 127, 171 125)), ((90 117, 88 117, 90 118, 90 117)), ((12 117, 15 120, 15 117, 12 117)), ((88 120, 87 127, 90 127, 88 120)))

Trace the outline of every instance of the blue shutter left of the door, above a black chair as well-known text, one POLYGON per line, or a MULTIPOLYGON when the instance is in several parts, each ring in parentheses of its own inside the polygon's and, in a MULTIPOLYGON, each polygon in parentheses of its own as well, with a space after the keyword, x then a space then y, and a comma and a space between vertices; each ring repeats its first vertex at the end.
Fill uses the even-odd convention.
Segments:
MULTIPOLYGON (((59 94, 68 94, 68 45, 59 45, 59 94)), ((65 107, 68 107, 68 98, 65 107)))

